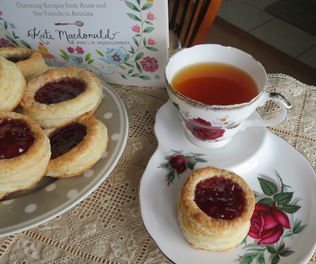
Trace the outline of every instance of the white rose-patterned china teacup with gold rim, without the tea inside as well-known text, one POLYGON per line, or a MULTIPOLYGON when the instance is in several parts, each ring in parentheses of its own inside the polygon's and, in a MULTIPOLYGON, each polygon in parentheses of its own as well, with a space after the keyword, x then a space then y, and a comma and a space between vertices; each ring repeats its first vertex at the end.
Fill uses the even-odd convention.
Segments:
POLYGON ((169 99, 177 108, 189 139, 204 148, 222 147, 238 131, 247 127, 276 125, 285 118, 287 109, 291 108, 290 102, 281 94, 266 92, 267 73, 264 67, 251 55, 233 47, 202 44, 182 49, 169 59, 165 67, 165 80, 169 99), (244 70, 255 81, 259 94, 243 103, 208 105, 182 95, 171 86, 173 77, 181 68, 203 62, 223 63, 244 70), (280 104, 282 111, 278 116, 267 120, 246 120, 267 100, 275 100, 280 104))

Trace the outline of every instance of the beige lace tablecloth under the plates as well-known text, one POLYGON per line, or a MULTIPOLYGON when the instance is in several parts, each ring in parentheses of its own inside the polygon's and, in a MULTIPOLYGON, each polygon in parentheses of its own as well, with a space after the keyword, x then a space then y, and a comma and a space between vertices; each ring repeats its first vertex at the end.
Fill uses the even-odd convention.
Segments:
MULTIPOLYGON (((161 88, 111 85, 129 119, 124 152, 108 178, 69 211, 21 233, 0 238, 2 264, 167 264, 145 231, 138 185, 157 148, 155 115, 167 101, 161 88)), ((269 75, 268 91, 279 92, 293 107, 286 119, 269 128, 300 151, 316 168, 316 87, 292 77, 269 75)), ((259 110, 265 118, 279 112, 274 102, 259 110)), ((1 216, 5 217, 5 216, 1 216)), ((309 264, 316 264, 316 254, 309 264)))

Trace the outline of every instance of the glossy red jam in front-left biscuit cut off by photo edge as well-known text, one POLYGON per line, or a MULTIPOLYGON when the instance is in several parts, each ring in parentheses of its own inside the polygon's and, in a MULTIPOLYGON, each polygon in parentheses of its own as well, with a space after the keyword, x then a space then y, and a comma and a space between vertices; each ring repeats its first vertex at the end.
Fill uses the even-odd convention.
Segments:
POLYGON ((0 160, 27 152, 34 142, 30 131, 23 119, 0 118, 0 160))

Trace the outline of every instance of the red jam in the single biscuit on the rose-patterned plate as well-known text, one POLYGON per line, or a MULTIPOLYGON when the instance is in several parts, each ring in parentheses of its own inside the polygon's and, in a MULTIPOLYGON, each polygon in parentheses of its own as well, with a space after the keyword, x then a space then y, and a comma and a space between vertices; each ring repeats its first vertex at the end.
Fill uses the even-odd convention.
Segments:
POLYGON ((232 220, 241 215, 245 207, 245 196, 236 182, 214 176, 197 184, 194 201, 208 216, 232 220))

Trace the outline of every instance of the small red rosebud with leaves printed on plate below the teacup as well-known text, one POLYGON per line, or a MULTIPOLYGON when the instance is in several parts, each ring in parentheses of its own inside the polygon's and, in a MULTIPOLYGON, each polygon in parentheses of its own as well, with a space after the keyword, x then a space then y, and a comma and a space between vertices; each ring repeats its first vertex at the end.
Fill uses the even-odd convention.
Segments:
POLYGON ((177 175, 180 178, 180 174, 182 174, 187 168, 193 170, 194 166, 197 163, 204 163, 207 162, 206 160, 200 158, 204 156, 204 154, 200 153, 183 153, 183 150, 173 150, 170 149, 172 153, 170 156, 164 157, 167 162, 161 163, 158 168, 163 168, 167 170, 166 182, 169 186, 170 183, 173 183, 175 176, 177 175))

